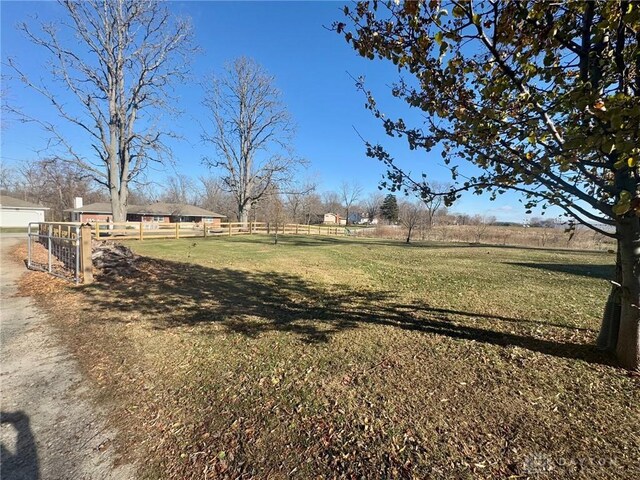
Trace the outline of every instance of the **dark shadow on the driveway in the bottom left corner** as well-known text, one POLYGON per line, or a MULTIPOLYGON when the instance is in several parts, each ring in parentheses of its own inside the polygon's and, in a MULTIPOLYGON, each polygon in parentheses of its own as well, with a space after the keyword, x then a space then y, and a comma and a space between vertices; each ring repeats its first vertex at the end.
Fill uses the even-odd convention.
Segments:
POLYGON ((0 444, 3 480, 37 480, 40 478, 38 450, 29 425, 29 416, 22 411, 0 412, 0 424, 9 424, 16 431, 13 449, 0 444))

